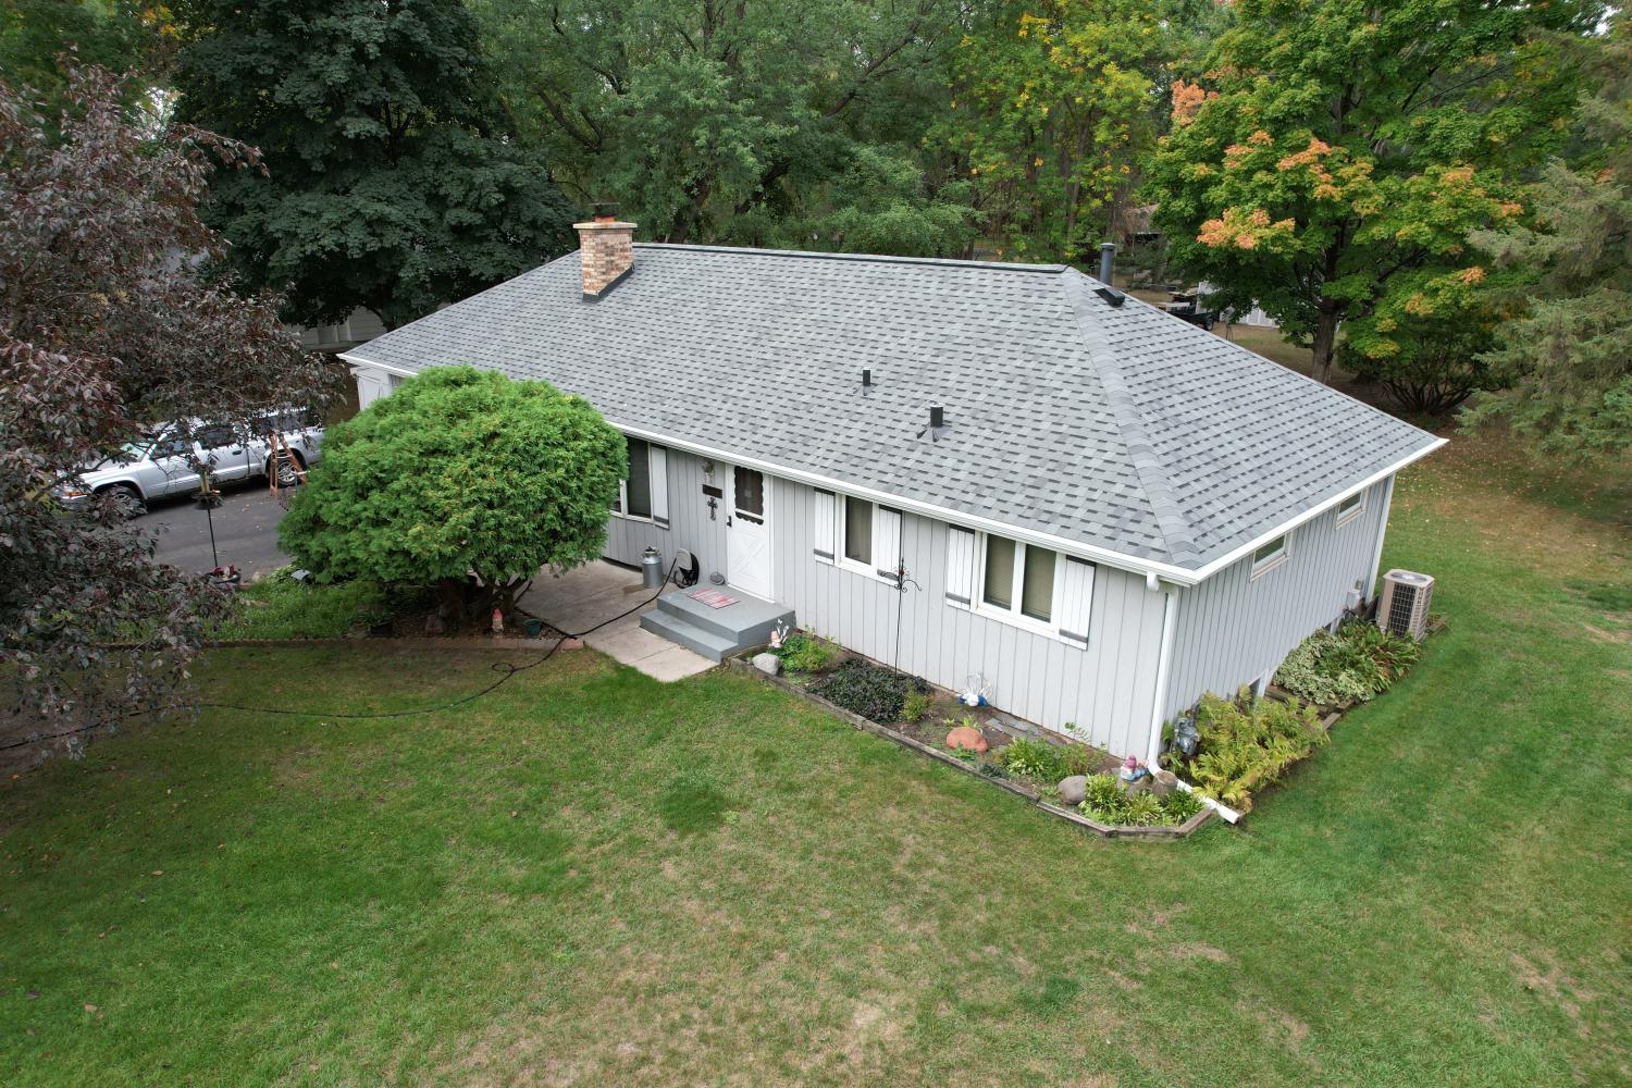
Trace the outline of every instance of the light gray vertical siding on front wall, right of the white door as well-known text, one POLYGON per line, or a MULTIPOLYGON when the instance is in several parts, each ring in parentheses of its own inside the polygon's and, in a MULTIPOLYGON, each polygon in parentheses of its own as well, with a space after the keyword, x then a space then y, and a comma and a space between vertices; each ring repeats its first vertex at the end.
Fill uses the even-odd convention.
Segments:
MULTIPOLYGON (((1144 579, 1098 568, 1087 648, 1027 631, 947 604, 945 522, 902 514, 902 597, 883 579, 814 556, 818 524, 829 525, 821 493, 774 480, 774 590, 800 626, 942 687, 960 690, 971 672, 992 682, 999 710, 1071 732, 1118 755, 1144 754, 1162 639, 1162 594, 1144 579), (818 519, 821 519, 818 522, 818 519)), ((885 561, 878 559, 878 566, 885 561)), ((978 584, 973 587, 979 592, 978 584)))

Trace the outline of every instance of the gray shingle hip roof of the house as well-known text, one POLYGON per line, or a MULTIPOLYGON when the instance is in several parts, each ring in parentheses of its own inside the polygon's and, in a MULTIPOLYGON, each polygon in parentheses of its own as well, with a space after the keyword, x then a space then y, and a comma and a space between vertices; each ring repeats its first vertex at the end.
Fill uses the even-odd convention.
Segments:
POLYGON ((609 419, 1196 569, 1436 439, 1061 266, 636 245, 349 352, 545 378, 609 419), (862 367, 876 390, 860 395, 862 367), (930 403, 942 440, 916 437, 930 403))

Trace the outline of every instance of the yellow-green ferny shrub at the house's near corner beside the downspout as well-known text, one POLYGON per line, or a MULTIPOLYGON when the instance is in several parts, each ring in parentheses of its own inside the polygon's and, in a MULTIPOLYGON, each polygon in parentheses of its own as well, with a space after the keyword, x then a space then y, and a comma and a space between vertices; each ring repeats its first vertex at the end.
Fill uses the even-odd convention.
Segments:
POLYGON ((1255 789, 1327 742, 1320 714, 1297 700, 1255 698, 1240 688, 1235 698, 1208 692, 1196 705, 1201 744, 1191 759, 1172 754, 1170 767, 1216 801, 1252 809, 1255 789))

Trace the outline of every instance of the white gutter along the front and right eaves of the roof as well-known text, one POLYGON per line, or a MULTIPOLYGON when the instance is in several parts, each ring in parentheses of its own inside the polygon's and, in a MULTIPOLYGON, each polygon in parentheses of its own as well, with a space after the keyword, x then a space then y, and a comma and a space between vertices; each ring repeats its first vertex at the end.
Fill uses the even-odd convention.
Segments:
MULTIPOLYGON (((413 377, 415 374, 418 374, 416 370, 405 370, 401 367, 393 367, 393 365, 387 365, 387 364, 382 364, 382 362, 374 362, 370 359, 364 359, 364 357, 361 357, 361 356, 357 356, 354 352, 349 352, 349 351, 339 352, 339 357, 344 359, 346 362, 349 362, 354 367, 374 367, 375 370, 385 370, 387 374, 400 374, 403 377, 413 377)), ((1410 457, 1405 457, 1404 460, 1390 465, 1389 468, 1384 468, 1384 470, 1381 470, 1377 473, 1373 473, 1371 476, 1368 476, 1366 480, 1363 480, 1359 484, 1356 484, 1356 486, 1353 486, 1353 488, 1350 488, 1350 489, 1346 489, 1346 491, 1343 491, 1340 494, 1335 494, 1330 499, 1320 502, 1319 506, 1314 506, 1314 507, 1304 511, 1297 517, 1293 517, 1291 520, 1286 520, 1281 525, 1276 525, 1270 532, 1262 533, 1260 537, 1255 537, 1253 540, 1248 540, 1242 546, 1239 546, 1234 551, 1229 551, 1229 553, 1219 556, 1217 559, 1213 559, 1206 566, 1203 566, 1200 569, 1190 569, 1190 568, 1183 568, 1183 566, 1173 566, 1172 563, 1160 563, 1157 559, 1141 559, 1138 556, 1123 555, 1121 551, 1111 551, 1110 548, 1097 548, 1093 545, 1085 545, 1085 543, 1082 543, 1079 540, 1067 540, 1064 537, 1054 537, 1053 533, 1040 533, 1040 532, 1035 532, 1035 530, 1030 530, 1030 529, 1023 529, 1020 525, 1010 525, 1009 522, 999 522, 999 520, 992 520, 989 517, 979 517, 978 514, 966 514, 963 511, 951 511, 951 509, 947 509, 943 506, 935 506, 934 502, 920 502, 919 499, 909 499, 906 496, 894 494, 894 493, 889 493, 889 491, 876 491, 873 488, 863 488, 863 486, 858 486, 858 484, 854 484, 854 483, 849 483, 849 481, 844 481, 844 480, 834 480, 832 476, 823 476, 821 473, 805 471, 803 468, 792 468, 788 465, 782 465, 782 463, 777 463, 777 462, 767 462, 767 460, 761 460, 761 458, 756 458, 756 457, 744 457, 743 453, 733 453, 730 450, 721 450, 721 449, 716 449, 716 447, 712 447, 712 445, 703 445, 700 442, 692 442, 689 439, 679 439, 679 437, 674 437, 672 434, 663 434, 661 431, 650 431, 646 427, 636 427, 635 424, 619 422, 617 419, 612 419, 610 416, 607 416, 607 422, 610 422, 614 427, 617 427, 623 434, 628 434, 628 436, 636 437, 636 439, 646 439, 648 442, 656 442, 658 445, 667 445, 669 449, 685 450, 687 453, 695 453, 698 457, 710 457, 710 458, 723 460, 728 465, 741 465, 744 468, 757 468, 759 471, 769 471, 774 476, 782 476, 783 480, 793 480, 795 483, 805 483, 805 484, 809 484, 813 488, 823 488, 823 489, 827 489, 827 491, 839 491, 839 493, 844 493, 844 494, 854 494, 858 499, 871 499, 873 502, 885 502, 886 506, 893 506, 893 507, 898 507, 898 509, 902 509, 902 511, 907 511, 907 512, 912 512, 912 514, 919 514, 922 517, 929 517, 929 519, 934 519, 934 520, 938 520, 938 522, 948 522, 951 525, 965 525, 968 529, 979 529, 979 530, 984 530, 984 532, 994 532, 994 533, 999 533, 1002 537, 1010 537, 1013 540, 1020 540, 1020 542, 1028 543, 1028 545, 1038 545, 1038 546, 1049 548, 1053 551, 1062 551, 1066 555, 1072 555, 1072 556, 1077 556, 1077 558, 1082 558, 1082 559, 1092 559, 1095 563, 1103 563, 1105 566, 1113 566, 1113 568, 1116 568, 1120 571, 1131 571, 1134 574, 1144 576, 1147 587, 1154 586, 1155 579, 1162 579, 1162 581, 1172 582, 1175 586, 1198 586, 1203 581, 1206 581, 1208 577, 1211 577, 1213 574, 1217 574, 1219 571, 1222 571, 1231 563, 1235 563, 1242 556, 1252 555, 1253 551, 1257 551, 1258 548, 1262 548, 1265 543, 1275 540, 1276 537, 1281 537, 1281 535, 1291 532, 1293 529, 1302 525, 1304 522, 1307 522, 1307 520, 1310 520, 1314 517, 1319 517, 1320 514, 1327 512, 1328 509, 1332 509, 1333 506, 1337 506, 1338 502, 1342 502, 1348 496, 1351 496, 1351 494, 1355 494, 1358 491, 1364 491, 1366 488, 1369 488, 1371 484, 1377 483, 1379 480, 1392 476, 1394 473, 1397 473, 1399 470, 1405 468, 1412 462, 1417 462, 1417 460, 1426 457, 1428 453, 1433 453, 1436 449, 1439 449, 1441 445, 1446 444, 1446 439, 1438 439, 1433 445, 1428 445, 1428 447, 1425 447, 1425 449, 1412 453, 1410 457)))

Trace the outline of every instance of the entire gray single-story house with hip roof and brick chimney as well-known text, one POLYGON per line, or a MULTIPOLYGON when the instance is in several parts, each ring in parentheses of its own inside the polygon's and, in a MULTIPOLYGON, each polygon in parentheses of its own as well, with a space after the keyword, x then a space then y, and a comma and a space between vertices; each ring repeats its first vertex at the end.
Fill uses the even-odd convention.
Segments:
POLYGON ((1164 719, 1369 597, 1394 475, 1441 445, 1069 268, 633 230, 581 223, 579 253, 346 352, 364 403, 447 364, 583 395, 630 444, 609 558, 685 548, 1115 754, 1154 760, 1164 719))

